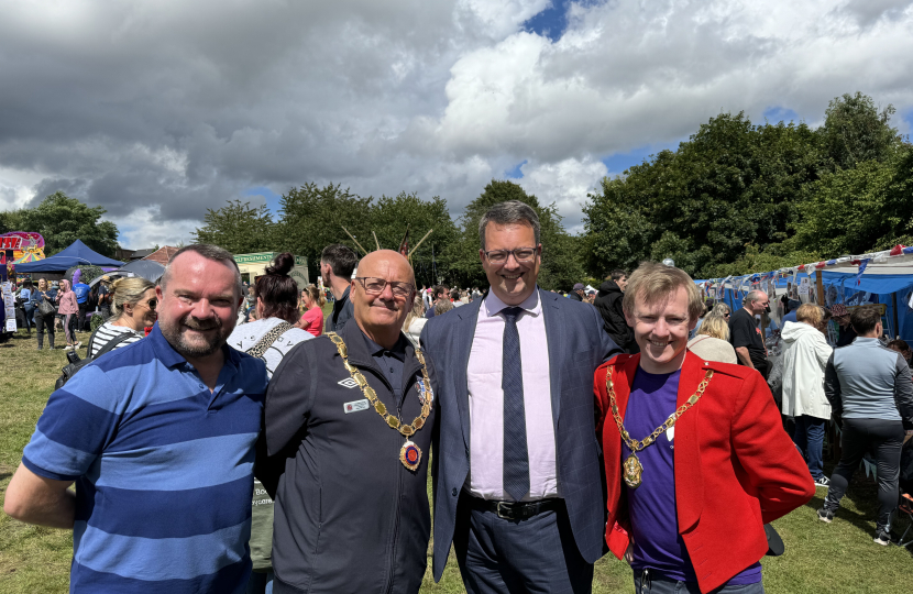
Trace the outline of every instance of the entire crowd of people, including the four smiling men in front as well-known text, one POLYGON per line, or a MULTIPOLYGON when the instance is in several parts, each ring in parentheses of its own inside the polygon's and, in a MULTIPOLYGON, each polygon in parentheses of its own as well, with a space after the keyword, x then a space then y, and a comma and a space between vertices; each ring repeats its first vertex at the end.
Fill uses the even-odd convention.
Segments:
MULTIPOLYGON (((770 522, 816 487, 832 521, 875 448, 890 541, 913 383, 876 310, 799 307, 778 404, 765 293, 730 311, 647 262, 558 294, 538 286, 532 209, 495 205, 479 233, 484 293, 327 246, 326 319, 292 254, 251 286, 212 245, 155 286, 118 280, 89 349, 129 340, 51 394, 6 513, 74 531, 73 592, 416 593, 433 530, 435 580, 452 547, 471 593, 591 592, 607 549, 638 592, 754 594, 783 552, 770 522), (844 315, 857 337, 835 349, 824 324, 844 315)), ((67 284, 50 290, 35 301, 80 315, 67 284)))

